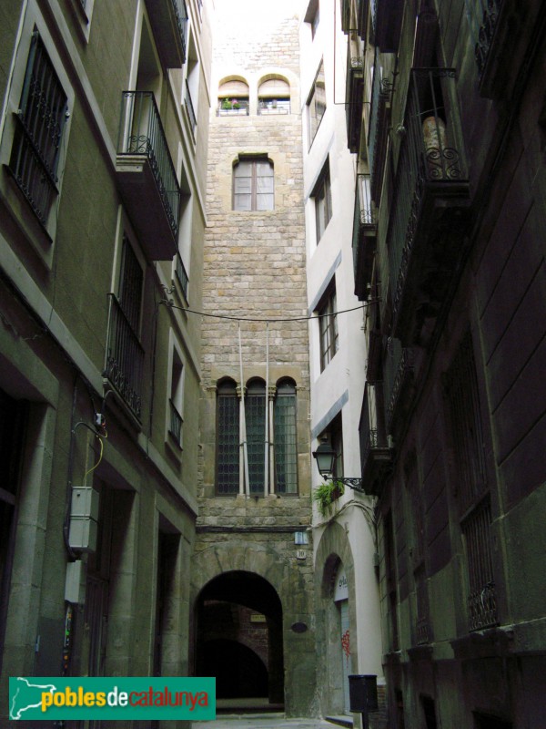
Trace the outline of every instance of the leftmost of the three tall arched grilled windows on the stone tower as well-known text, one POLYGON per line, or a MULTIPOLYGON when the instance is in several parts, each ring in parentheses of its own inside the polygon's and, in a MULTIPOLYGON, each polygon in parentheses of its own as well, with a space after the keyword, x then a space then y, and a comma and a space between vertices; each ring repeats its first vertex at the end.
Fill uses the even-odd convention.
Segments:
POLYGON ((233 380, 217 388, 217 493, 238 494, 239 400, 233 380))

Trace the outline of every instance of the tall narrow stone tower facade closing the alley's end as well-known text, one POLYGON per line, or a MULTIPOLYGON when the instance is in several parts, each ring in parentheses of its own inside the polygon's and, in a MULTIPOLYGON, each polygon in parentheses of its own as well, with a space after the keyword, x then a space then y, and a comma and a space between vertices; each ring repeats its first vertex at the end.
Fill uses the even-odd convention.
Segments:
MULTIPOLYGON (((257 611, 268 625, 266 701, 307 715, 315 631, 298 16, 261 4, 245 17, 230 3, 216 9, 194 660, 239 655, 239 640, 207 640, 202 626, 218 604, 257 611)), ((248 698, 256 655, 219 700, 248 698)))

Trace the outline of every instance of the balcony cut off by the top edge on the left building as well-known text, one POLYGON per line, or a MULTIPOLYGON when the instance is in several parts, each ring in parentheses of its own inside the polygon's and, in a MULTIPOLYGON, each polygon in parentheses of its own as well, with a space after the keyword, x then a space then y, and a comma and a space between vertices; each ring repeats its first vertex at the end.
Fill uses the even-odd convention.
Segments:
POLYGON ((146 0, 161 63, 180 68, 186 63, 187 7, 184 0, 146 0))

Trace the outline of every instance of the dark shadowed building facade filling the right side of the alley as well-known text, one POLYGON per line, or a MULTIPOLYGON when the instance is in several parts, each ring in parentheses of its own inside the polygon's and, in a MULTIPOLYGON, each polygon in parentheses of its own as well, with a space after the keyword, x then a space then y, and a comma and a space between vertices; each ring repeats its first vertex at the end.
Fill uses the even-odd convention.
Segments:
POLYGON ((544 4, 342 13, 389 725, 544 726, 544 4))

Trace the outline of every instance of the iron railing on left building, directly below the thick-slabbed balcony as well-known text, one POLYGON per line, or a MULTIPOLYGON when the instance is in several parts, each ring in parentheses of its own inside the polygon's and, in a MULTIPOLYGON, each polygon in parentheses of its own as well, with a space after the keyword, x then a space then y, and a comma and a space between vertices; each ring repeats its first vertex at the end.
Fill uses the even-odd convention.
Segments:
POLYGON ((109 293, 108 296, 110 311, 104 375, 140 420, 144 349, 116 296, 113 293, 109 293))

